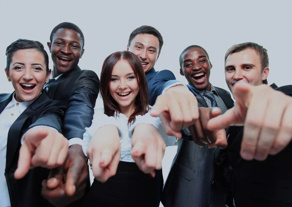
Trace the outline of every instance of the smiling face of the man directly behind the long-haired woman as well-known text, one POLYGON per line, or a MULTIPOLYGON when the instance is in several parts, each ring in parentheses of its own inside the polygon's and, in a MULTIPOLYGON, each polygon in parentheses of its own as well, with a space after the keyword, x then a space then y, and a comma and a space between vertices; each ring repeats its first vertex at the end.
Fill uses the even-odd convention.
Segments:
POLYGON ((127 50, 140 59, 144 72, 147 73, 159 57, 159 40, 154 35, 139 34, 132 39, 127 50))

